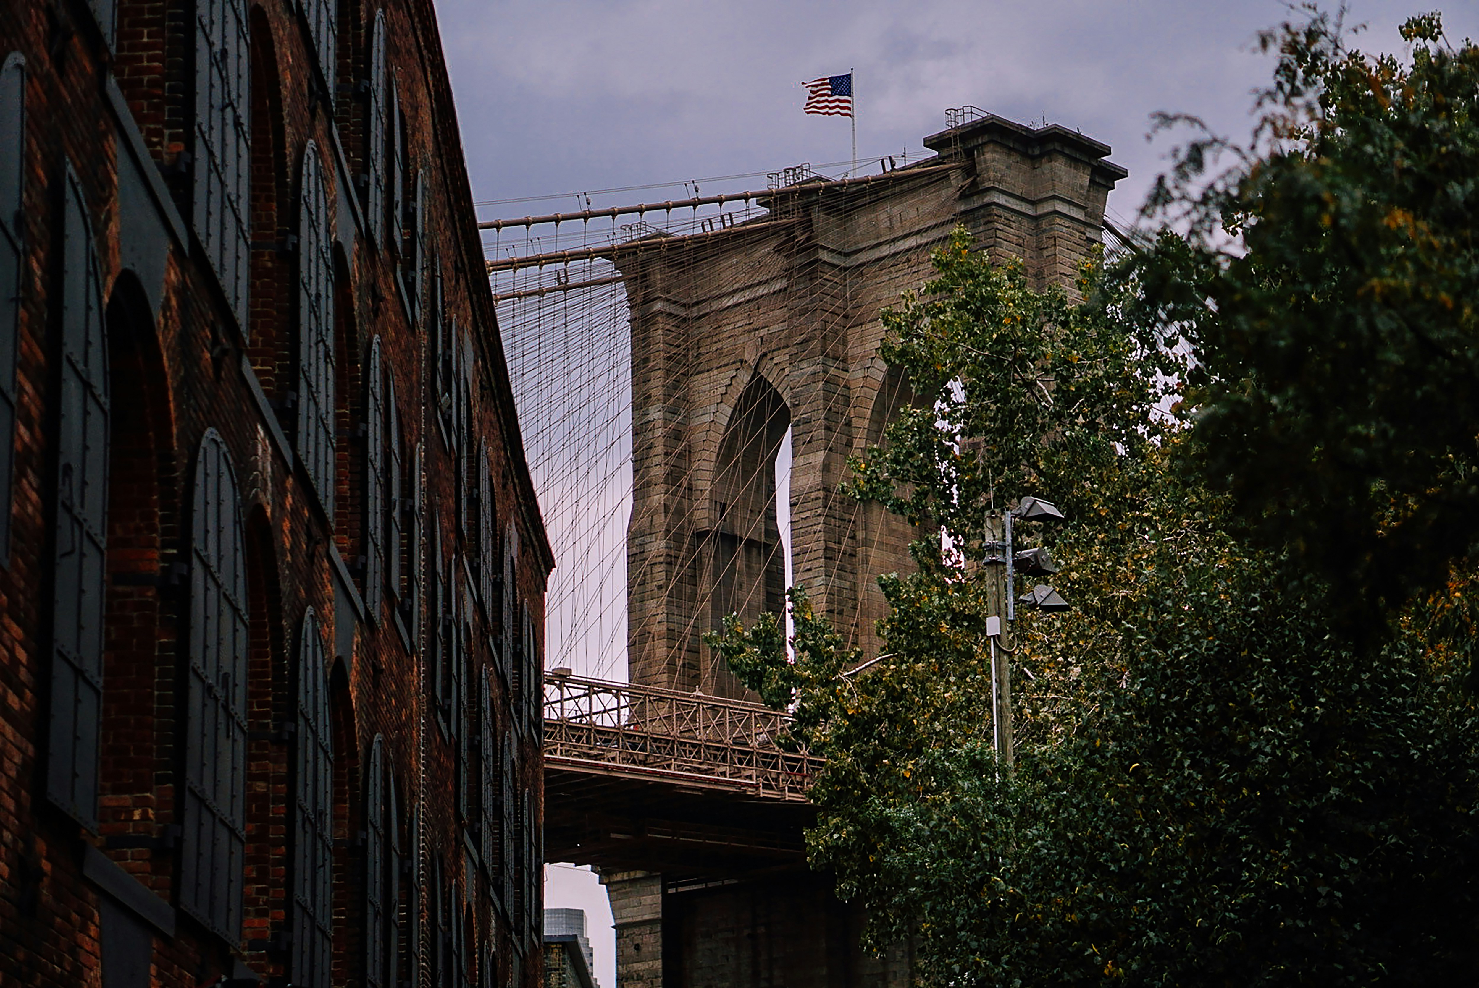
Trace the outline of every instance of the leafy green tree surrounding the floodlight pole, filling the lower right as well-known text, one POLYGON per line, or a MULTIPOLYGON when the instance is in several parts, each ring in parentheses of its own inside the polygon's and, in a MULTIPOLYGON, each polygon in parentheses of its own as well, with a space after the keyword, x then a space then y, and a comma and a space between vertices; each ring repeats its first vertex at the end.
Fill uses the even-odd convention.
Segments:
POLYGON ((935 263, 886 317, 921 404, 855 464, 929 532, 880 581, 884 657, 845 673, 861 657, 800 590, 794 661, 775 615, 714 639, 825 756, 812 865, 873 944, 916 939, 927 984, 1472 981, 1479 722, 1424 648, 1452 615, 1409 611, 1371 661, 1288 592, 1157 411, 1176 361, 1133 278, 1090 263, 1075 303, 960 234, 935 263), (979 519, 1025 493, 1072 519, 1052 550, 1075 611, 1019 621, 1009 771, 979 519))

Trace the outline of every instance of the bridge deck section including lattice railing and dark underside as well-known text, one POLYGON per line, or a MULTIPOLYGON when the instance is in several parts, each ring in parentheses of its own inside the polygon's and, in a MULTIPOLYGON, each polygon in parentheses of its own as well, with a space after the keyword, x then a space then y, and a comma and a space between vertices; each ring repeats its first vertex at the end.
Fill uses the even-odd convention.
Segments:
POLYGON ((775 744, 762 704, 544 676, 544 856, 667 880, 805 862, 819 762, 775 744))

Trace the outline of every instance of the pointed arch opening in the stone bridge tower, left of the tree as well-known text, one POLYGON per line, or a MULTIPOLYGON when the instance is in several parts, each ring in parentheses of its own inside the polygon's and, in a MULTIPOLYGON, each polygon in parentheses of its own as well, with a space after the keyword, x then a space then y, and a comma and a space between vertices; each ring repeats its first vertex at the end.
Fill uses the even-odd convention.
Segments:
MULTIPOLYGON (((785 609, 785 553, 776 507, 775 457, 791 427, 791 411, 763 376, 745 386, 719 441, 710 488, 707 532, 708 617, 719 629, 728 614, 750 624, 762 612, 785 609)), ((744 697, 714 649, 703 649, 698 688, 716 697, 744 697)))

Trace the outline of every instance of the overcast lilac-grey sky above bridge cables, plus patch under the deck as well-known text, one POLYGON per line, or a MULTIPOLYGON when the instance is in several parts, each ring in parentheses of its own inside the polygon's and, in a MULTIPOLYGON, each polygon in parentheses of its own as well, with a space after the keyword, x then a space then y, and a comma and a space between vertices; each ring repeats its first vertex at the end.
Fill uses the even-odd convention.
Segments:
MULTIPOLYGON (((1405 52, 1396 25, 1436 4, 1352 0, 1367 50, 1405 52)), ((1455 43, 1479 4, 1439 6, 1455 43)), ((615 206, 765 188, 765 173, 846 163, 849 124, 802 114, 800 83, 855 71, 858 155, 923 154, 947 106, 1047 120, 1103 141, 1130 177, 1109 201, 1131 217, 1174 138, 1146 143, 1155 111, 1245 136, 1268 83, 1256 35, 1278 0, 438 0, 473 198, 592 192, 615 206), (748 175, 747 175, 748 173, 748 175), (713 180, 720 176, 742 176, 713 180), (626 189, 670 183, 660 189, 626 189)), ((836 176, 846 164, 824 172, 836 176)), ((574 198, 490 203, 481 219, 577 209, 574 198)), ((598 976, 611 976, 599 889, 552 870, 550 905, 592 910, 598 976), (595 889, 595 890, 593 890, 595 889)))

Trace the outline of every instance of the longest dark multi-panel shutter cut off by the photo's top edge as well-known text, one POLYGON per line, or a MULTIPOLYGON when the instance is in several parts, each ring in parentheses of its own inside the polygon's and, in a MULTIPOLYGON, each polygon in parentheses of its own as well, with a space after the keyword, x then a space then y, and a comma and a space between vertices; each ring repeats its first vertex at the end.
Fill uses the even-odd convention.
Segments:
POLYGON ((195 3, 195 186, 191 220, 243 334, 247 328, 251 138, 246 0, 195 3))

